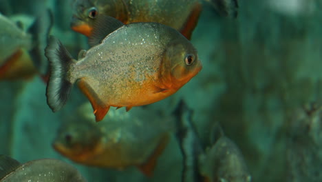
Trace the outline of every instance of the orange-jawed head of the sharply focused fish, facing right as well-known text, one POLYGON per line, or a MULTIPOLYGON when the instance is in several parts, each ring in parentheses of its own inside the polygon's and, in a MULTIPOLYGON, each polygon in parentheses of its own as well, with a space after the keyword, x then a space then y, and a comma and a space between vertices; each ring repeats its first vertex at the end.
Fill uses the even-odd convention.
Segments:
POLYGON ((162 60, 162 76, 168 78, 173 88, 181 88, 202 70, 197 50, 185 37, 180 38, 167 45, 162 60))

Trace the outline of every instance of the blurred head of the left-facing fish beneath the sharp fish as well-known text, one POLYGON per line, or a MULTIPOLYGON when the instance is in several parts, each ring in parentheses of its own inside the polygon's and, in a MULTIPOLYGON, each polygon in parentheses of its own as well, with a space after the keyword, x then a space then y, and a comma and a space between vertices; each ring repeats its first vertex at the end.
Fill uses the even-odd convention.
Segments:
POLYGON ((83 161, 100 145, 102 132, 94 119, 72 119, 58 129, 53 148, 74 161, 83 161))

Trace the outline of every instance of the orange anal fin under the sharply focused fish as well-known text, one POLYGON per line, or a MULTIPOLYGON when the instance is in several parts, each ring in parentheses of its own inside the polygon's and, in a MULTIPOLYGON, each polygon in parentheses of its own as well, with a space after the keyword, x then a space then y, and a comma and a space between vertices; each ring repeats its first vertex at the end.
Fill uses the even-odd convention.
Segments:
POLYGON ((94 110, 96 121, 102 121, 109 112, 109 105, 105 105, 100 99, 96 92, 91 88, 89 84, 86 83, 83 79, 78 81, 78 87, 82 90, 83 94, 89 99, 94 110))

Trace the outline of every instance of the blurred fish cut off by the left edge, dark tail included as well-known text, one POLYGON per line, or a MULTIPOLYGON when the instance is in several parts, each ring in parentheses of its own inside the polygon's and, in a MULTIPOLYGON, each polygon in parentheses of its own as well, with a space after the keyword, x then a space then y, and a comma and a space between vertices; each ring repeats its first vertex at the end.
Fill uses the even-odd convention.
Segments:
POLYGON ((42 24, 50 16, 47 13, 36 19, 28 32, 23 30, 21 22, 14 23, 0 14, 0 80, 30 78, 38 72, 34 67, 35 62, 47 62, 38 41, 45 39, 41 37, 47 37, 50 29, 47 23, 42 24))

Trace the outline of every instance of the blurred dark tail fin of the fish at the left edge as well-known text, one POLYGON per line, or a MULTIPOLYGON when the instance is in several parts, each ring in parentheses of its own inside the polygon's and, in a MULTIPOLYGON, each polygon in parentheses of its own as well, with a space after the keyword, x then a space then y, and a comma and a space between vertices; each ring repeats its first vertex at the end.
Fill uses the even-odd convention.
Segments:
POLYGON ((41 74, 41 77, 46 77, 49 72, 48 61, 43 55, 43 50, 48 42, 48 36, 53 25, 53 15, 50 9, 43 10, 37 16, 36 21, 28 29, 32 34, 33 48, 30 50, 34 66, 41 74))

